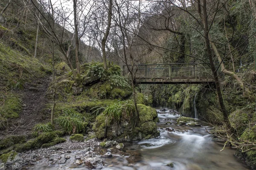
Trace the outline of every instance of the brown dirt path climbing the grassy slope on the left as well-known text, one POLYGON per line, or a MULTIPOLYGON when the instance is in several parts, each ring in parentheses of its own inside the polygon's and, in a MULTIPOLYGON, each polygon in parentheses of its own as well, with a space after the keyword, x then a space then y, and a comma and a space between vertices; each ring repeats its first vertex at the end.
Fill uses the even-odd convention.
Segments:
POLYGON ((19 118, 9 121, 8 128, 0 132, 0 139, 6 135, 22 135, 31 133, 34 125, 49 121, 50 111, 44 111, 51 100, 46 98, 46 91, 51 79, 43 77, 25 83, 24 90, 18 91, 22 96, 22 111, 19 118), (49 113, 49 114, 48 114, 49 113))

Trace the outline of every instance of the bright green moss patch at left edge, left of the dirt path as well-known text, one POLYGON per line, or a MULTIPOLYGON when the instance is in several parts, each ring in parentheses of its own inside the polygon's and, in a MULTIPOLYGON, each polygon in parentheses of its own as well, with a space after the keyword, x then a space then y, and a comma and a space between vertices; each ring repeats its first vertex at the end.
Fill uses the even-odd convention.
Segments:
POLYGON ((21 102, 19 96, 14 93, 0 93, 0 117, 18 118, 21 111, 21 102))

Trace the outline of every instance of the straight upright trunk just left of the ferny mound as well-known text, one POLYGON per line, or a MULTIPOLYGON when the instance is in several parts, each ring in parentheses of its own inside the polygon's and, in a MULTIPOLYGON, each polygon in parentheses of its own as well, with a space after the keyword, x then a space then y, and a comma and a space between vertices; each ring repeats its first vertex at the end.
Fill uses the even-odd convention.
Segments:
POLYGON ((74 25, 75 25, 75 42, 76 42, 76 73, 80 75, 80 62, 78 57, 79 51, 79 38, 78 38, 78 28, 77 28, 77 16, 76 16, 76 0, 73 0, 73 8, 74 8, 74 25))

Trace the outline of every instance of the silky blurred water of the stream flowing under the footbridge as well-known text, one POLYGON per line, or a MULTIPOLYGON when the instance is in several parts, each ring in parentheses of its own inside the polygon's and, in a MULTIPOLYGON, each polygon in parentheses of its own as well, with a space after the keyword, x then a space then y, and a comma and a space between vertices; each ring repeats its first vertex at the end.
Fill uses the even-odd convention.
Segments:
MULTIPOLYGON (((250 170, 243 161, 234 156, 234 149, 226 146, 224 151, 220 152, 224 142, 212 140, 213 137, 205 130, 212 128, 207 123, 198 120, 201 126, 179 126, 176 122, 179 117, 177 113, 158 109, 157 111, 160 119, 157 124, 160 136, 145 141, 124 143, 125 149, 121 152, 123 156, 101 158, 105 163, 102 170, 250 170), (167 167, 166 164, 169 163, 173 163, 174 167, 167 167)), ((107 149, 96 147, 94 151, 102 155, 108 152, 107 149)), ((115 149, 111 149, 114 154, 115 149)), ((64 153, 71 158, 62 165, 49 166, 47 161, 41 160, 26 169, 87 170, 84 165, 74 165, 78 152, 79 150, 64 153)), ((55 154, 53 157, 58 156, 60 155, 55 154)))

